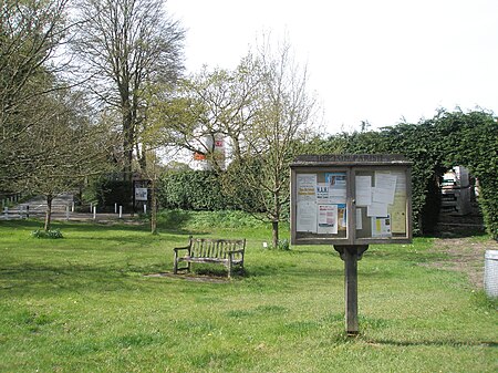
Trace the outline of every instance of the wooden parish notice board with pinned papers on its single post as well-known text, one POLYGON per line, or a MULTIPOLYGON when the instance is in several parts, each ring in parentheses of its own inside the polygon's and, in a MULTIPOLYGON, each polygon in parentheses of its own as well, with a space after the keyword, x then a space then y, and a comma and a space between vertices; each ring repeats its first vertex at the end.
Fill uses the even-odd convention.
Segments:
POLYGON ((303 155, 290 167, 291 245, 340 252, 346 332, 357 334, 357 261, 369 245, 412 242, 412 163, 401 155, 303 155))

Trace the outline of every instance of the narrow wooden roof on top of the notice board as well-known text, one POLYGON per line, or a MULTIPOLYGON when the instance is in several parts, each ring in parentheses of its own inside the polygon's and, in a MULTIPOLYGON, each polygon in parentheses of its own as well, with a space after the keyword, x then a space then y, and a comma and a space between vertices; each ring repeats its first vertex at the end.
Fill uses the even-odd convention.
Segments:
POLYGON ((354 165, 400 165, 409 166, 413 163, 401 154, 322 154, 300 155, 291 167, 310 166, 354 166, 354 165))

